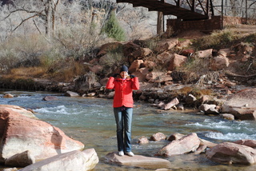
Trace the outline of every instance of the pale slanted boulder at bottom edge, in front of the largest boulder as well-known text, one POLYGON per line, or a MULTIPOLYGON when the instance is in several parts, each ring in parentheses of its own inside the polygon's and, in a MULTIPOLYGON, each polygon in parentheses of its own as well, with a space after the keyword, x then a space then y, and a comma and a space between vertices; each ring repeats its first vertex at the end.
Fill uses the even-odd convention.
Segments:
POLYGON ((83 151, 74 150, 68 153, 58 154, 54 157, 38 161, 33 165, 28 165, 19 171, 86 171, 92 170, 98 164, 98 156, 94 149, 83 151))

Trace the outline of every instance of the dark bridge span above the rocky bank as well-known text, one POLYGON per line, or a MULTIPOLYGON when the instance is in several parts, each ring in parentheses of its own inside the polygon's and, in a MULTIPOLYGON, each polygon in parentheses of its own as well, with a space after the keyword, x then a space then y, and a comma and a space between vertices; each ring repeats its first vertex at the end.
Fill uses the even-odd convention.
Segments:
POLYGON ((209 19, 214 15, 212 0, 116 0, 143 6, 150 11, 174 15, 183 21, 209 19))

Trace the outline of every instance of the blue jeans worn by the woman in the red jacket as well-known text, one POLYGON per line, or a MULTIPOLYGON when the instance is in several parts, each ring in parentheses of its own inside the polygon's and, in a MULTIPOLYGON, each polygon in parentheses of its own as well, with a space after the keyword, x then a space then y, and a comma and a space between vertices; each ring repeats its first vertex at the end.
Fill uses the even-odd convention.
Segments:
POLYGON ((117 125, 118 151, 128 153, 131 151, 131 122, 133 108, 114 108, 114 117, 117 125))

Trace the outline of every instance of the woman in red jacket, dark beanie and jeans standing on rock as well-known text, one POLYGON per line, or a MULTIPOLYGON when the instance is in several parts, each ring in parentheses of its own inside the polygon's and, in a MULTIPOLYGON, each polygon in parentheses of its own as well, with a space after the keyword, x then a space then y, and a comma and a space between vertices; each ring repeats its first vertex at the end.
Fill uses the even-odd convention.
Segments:
POLYGON ((138 78, 128 75, 127 66, 122 66, 120 74, 114 74, 106 83, 106 89, 114 89, 114 117, 117 125, 118 155, 125 153, 133 157, 131 151, 131 122, 133 116, 133 89, 139 89, 138 78))

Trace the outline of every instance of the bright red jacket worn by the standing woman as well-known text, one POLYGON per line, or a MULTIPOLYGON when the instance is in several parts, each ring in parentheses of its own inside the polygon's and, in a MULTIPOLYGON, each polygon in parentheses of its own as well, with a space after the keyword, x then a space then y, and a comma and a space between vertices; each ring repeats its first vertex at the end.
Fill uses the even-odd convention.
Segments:
POLYGON ((114 89, 113 107, 133 107, 133 89, 139 89, 138 78, 113 78, 106 83, 106 89, 114 89))

